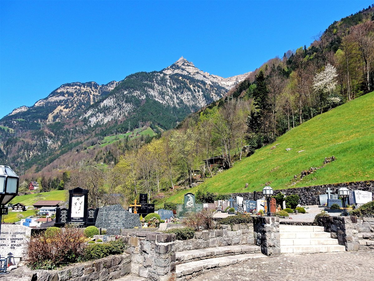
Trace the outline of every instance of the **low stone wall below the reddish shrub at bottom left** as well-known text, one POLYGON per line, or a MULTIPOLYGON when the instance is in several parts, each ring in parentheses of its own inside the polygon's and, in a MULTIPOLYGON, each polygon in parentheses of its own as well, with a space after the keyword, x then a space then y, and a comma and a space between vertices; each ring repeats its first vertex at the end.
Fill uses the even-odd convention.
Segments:
MULTIPOLYGON (((25 266, 15 269, 10 273, 10 277, 22 274, 25 266)), ((125 255, 109 256, 102 259, 86 263, 78 263, 65 266, 58 270, 34 270, 29 271, 33 275, 33 280, 54 280, 54 281, 105 281, 115 280, 130 274, 131 257, 125 255)), ((23 279, 20 279, 23 280, 23 279)), ((25 279, 26 280, 26 279, 25 279)))

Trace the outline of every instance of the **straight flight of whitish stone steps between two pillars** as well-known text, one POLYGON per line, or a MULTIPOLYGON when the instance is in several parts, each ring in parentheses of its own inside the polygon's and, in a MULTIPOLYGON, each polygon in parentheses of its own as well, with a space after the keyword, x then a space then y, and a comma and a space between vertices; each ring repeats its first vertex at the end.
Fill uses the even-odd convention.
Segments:
POLYGON ((331 233, 324 232, 323 226, 280 225, 281 253, 330 253, 343 252, 345 246, 339 245, 331 233))

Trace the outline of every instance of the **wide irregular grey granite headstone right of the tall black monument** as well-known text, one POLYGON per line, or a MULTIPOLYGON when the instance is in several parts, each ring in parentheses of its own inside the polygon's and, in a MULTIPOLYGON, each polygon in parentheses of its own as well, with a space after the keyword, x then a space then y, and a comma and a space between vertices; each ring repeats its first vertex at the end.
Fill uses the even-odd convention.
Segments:
POLYGON ((108 235, 117 235, 121 234, 121 228, 141 227, 141 223, 138 214, 132 214, 116 204, 99 209, 95 226, 106 229, 108 235))

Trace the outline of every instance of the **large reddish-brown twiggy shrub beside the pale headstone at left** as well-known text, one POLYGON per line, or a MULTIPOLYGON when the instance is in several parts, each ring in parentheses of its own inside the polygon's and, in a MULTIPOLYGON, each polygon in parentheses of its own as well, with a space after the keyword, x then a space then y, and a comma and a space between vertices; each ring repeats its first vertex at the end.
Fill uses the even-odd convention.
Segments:
POLYGON ((85 251, 85 236, 80 229, 67 228, 52 237, 44 233, 27 242, 27 266, 30 269, 55 269, 77 262, 85 251))

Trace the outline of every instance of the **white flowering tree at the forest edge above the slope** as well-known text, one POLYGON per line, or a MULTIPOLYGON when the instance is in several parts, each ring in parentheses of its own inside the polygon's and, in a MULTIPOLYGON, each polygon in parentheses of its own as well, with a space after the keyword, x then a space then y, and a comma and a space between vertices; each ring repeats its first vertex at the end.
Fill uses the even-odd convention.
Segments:
POLYGON ((328 63, 324 71, 317 73, 313 78, 313 90, 318 97, 321 113, 323 112, 328 94, 335 90, 338 83, 336 80, 337 76, 336 68, 328 63))

